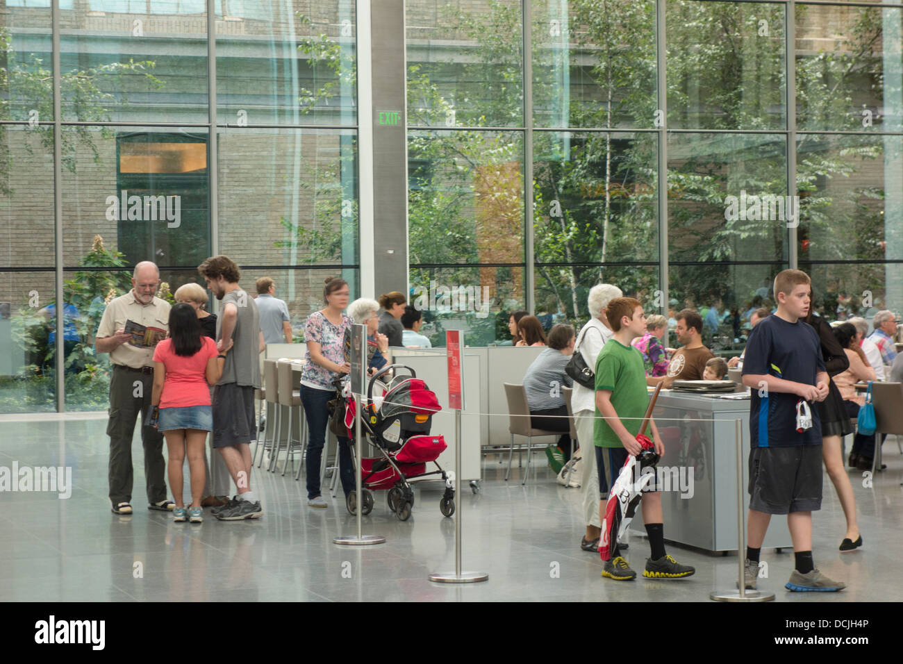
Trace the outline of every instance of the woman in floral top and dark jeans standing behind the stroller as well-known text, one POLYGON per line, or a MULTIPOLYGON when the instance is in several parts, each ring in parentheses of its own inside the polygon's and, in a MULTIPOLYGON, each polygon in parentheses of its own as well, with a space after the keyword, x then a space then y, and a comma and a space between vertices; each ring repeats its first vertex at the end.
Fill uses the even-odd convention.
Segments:
MULTIPOLYGON (((347 375, 351 365, 345 360, 345 333, 352 321, 342 313, 348 306, 349 287, 344 279, 330 277, 323 287, 326 306, 313 312, 304 325, 307 357, 301 374, 301 403, 307 417, 310 440, 307 444, 307 504, 326 507, 320 491, 320 460, 329 422, 327 402, 335 397, 332 381, 347 375)), ((347 496, 354 491, 349 439, 339 438, 339 477, 347 496)))

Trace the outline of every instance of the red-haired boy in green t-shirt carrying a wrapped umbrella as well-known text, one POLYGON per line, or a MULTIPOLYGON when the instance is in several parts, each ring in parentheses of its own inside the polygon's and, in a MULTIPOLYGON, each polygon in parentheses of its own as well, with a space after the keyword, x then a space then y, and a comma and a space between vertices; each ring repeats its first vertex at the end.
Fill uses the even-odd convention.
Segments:
MULTIPOLYGON (((616 297, 605 310, 605 316, 614 336, 605 344, 596 360, 596 421, 593 426, 593 443, 596 445, 596 462, 599 468, 600 486, 606 486, 603 454, 609 454, 611 485, 627 461, 627 455, 636 456, 642 451, 637 442, 639 426, 649 402, 646 390, 646 371, 643 356, 633 346, 633 341, 646 332, 646 315, 643 307, 632 297, 616 297), (605 417, 606 419, 602 419, 605 417), (624 417, 624 421, 621 421, 624 417)), ((665 446, 658 435, 656 423, 649 419, 656 454, 665 454, 665 446)), ((681 565, 665 551, 665 528, 662 523, 662 495, 657 492, 655 480, 644 491, 640 503, 643 522, 649 536, 651 556, 647 558, 643 575, 649 578, 680 578, 695 573, 691 566, 681 565)), ((604 502, 600 503, 604 506, 604 502)), ((604 509, 604 507, 602 508, 604 509)), ((600 519, 604 519, 604 512, 600 519)), ((603 533, 603 537, 604 537, 603 533)), ((619 555, 616 546, 606 561, 602 576, 616 581, 629 581, 637 577, 627 560, 619 555)))

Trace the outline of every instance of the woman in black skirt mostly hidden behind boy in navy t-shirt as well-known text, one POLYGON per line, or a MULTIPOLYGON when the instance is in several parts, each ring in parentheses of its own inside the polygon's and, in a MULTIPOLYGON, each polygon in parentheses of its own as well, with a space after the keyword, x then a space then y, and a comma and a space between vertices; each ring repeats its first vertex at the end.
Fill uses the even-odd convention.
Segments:
POLYGON ((843 455, 841 452, 841 440, 844 435, 852 434, 852 422, 847 414, 846 405, 840 390, 834 385, 831 377, 842 373, 850 367, 850 360, 834 336, 831 325, 821 316, 817 316, 809 310, 805 317, 818 332, 818 338, 822 341, 822 356, 824 358, 824 370, 828 372, 828 397, 824 401, 816 403, 818 417, 822 423, 822 458, 824 469, 833 482, 834 490, 841 501, 843 516, 846 518, 846 534, 841 542, 842 552, 852 551, 862 546, 862 538, 859 525, 856 522, 856 501, 852 494, 850 477, 843 467, 843 455))

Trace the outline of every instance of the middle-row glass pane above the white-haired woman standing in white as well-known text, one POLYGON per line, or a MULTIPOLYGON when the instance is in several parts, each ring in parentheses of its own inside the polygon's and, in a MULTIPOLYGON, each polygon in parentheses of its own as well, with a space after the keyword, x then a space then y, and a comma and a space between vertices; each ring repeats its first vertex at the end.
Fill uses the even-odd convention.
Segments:
POLYGON ((601 267, 657 264, 655 165, 651 134, 534 135, 537 309, 573 318, 586 310, 581 285, 597 283, 601 267))

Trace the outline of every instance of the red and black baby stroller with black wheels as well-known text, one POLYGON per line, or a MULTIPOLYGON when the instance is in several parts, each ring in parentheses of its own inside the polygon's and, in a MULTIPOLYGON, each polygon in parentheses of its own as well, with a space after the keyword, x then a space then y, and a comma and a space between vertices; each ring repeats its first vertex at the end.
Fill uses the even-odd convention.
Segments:
MULTIPOLYGON (((354 440, 355 401, 349 394, 343 395, 343 399, 343 424, 349 438, 354 440)), ((433 414, 442 410, 433 391, 416 377, 414 369, 389 364, 368 379, 364 408, 360 417, 364 442, 369 439, 381 456, 360 460, 363 513, 369 514, 373 510, 372 491, 388 490, 389 510, 395 512, 399 520, 406 521, 414 507, 411 482, 441 475, 445 491, 439 510, 444 516, 451 517, 455 510, 452 473, 442 470, 436 462, 447 445, 444 436, 430 434, 433 414), (396 376, 386 385, 380 378, 393 369, 396 376), (376 397, 374 388, 377 389, 376 397), (427 472, 427 463, 433 463, 437 470, 427 472)), ((345 505, 351 514, 355 513, 358 505, 355 491, 349 493, 345 505)))

